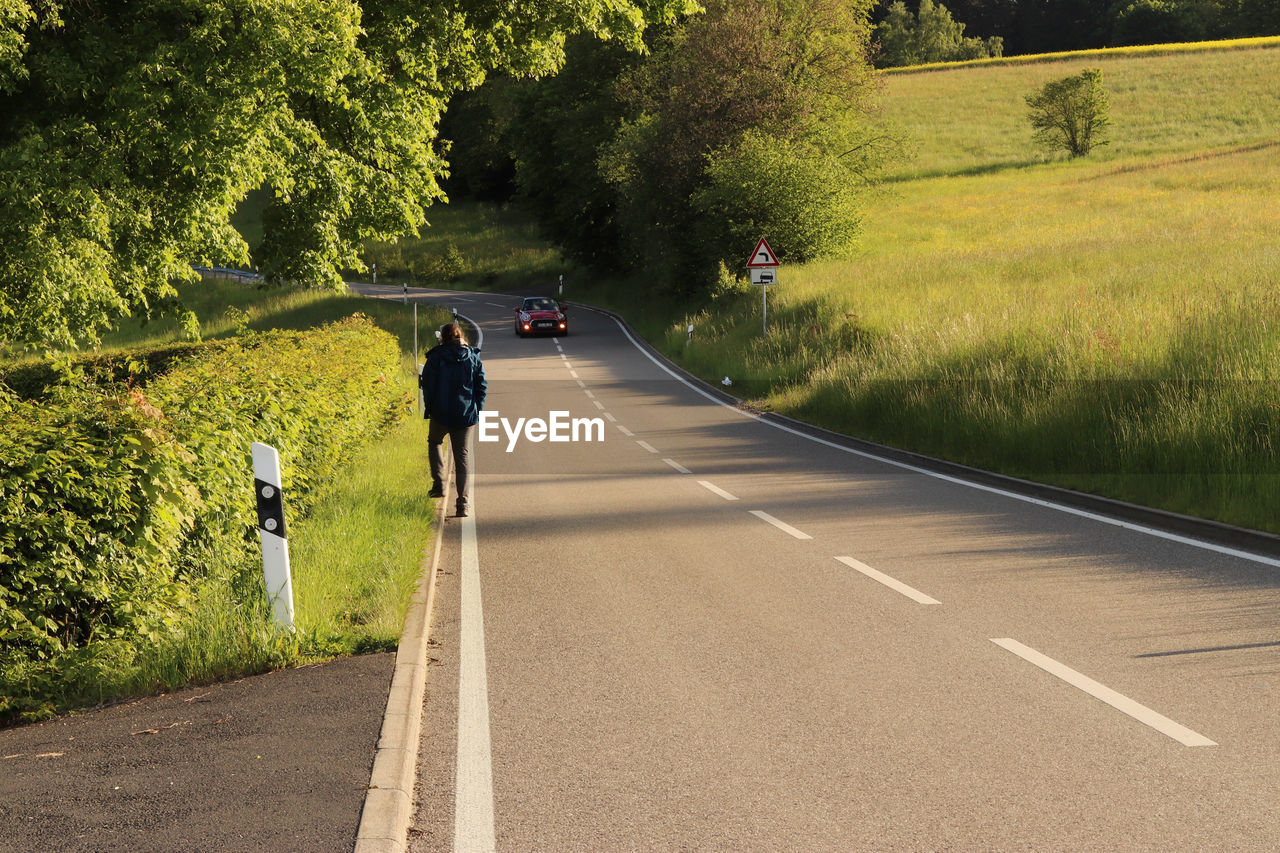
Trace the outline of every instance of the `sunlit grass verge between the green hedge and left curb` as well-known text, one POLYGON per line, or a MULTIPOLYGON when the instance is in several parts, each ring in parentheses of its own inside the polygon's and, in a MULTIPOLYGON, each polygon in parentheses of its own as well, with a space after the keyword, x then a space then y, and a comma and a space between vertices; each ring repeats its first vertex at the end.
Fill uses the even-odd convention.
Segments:
POLYGON ((421 423, 404 420, 374 441, 324 488, 307 517, 289 519, 296 631, 271 620, 261 561, 251 551, 238 565, 207 567, 209 579, 172 630, 137 643, 91 643, 60 672, 33 667, 31 692, 40 702, 28 702, 33 710, 14 721, 394 651, 434 535, 421 466, 406 464, 421 457, 421 423))

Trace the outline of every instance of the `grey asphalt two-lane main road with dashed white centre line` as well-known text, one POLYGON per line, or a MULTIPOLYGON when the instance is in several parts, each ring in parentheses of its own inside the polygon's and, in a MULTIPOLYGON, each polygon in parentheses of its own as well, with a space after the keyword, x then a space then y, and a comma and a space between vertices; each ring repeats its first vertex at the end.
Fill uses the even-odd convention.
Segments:
POLYGON ((1275 850, 1280 569, 869 460, 612 319, 484 330, 411 849, 1275 850))

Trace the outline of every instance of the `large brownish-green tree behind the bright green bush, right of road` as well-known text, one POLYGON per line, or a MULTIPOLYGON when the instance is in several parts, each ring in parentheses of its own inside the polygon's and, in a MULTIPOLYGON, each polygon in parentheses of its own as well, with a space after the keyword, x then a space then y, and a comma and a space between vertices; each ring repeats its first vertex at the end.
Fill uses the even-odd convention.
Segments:
MULTIPOLYGON (((727 175, 759 155, 762 140, 838 161, 828 182, 860 182, 872 170, 883 147, 868 120, 867 15, 867 5, 845 0, 717 0, 654 46, 622 82, 632 118, 600 158, 630 265, 691 291, 714 279, 718 261, 741 263, 741 246, 708 240, 732 231, 716 222, 732 211, 710 200, 726 197, 727 175)), ((791 183, 803 186, 812 184, 791 183)), ((748 186, 736 193, 748 205, 818 213, 753 197, 748 186)))

